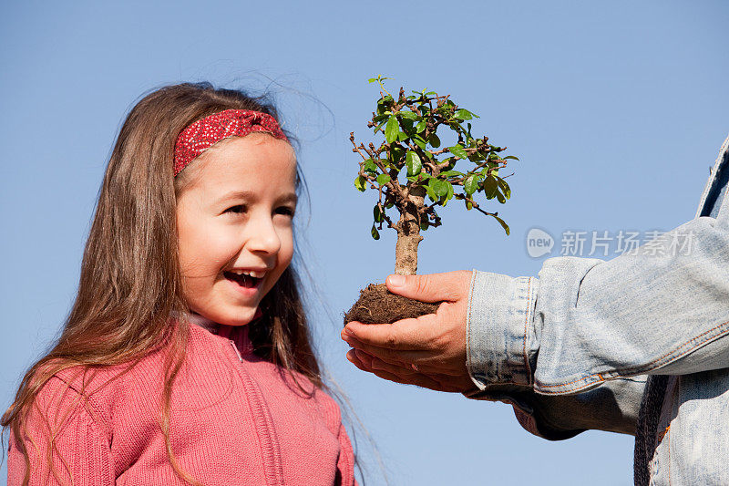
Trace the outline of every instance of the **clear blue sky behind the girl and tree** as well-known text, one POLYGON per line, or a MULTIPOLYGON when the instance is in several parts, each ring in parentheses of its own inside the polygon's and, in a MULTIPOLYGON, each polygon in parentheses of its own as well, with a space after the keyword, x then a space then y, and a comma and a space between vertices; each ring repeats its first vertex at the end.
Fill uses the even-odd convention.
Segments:
POLYGON ((506 405, 387 383, 344 359, 342 312, 391 272, 395 243, 369 236, 374 195, 352 185, 348 137, 369 136, 377 92, 366 79, 383 74, 394 88, 450 93, 480 115, 475 131, 519 156, 512 199, 492 208, 511 235, 449 206, 421 243, 420 273, 536 275, 549 255, 527 253, 534 227, 558 239, 671 230, 693 218, 729 132, 724 2, 79 1, 0 13, 3 407, 75 295, 121 119, 151 88, 210 80, 272 92, 302 142, 312 322, 384 463, 357 433, 370 484, 631 482, 631 437, 548 442, 506 405))

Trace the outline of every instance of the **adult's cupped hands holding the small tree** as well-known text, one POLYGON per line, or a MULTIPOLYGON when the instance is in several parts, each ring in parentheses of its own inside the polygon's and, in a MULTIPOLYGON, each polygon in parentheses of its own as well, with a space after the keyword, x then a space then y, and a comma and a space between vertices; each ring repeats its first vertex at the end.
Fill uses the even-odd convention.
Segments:
POLYGON ((444 301, 436 314, 393 324, 350 322, 342 339, 355 367, 397 383, 439 391, 475 388, 466 368, 466 314, 471 272, 390 275, 393 294, 422 302, 444 301))

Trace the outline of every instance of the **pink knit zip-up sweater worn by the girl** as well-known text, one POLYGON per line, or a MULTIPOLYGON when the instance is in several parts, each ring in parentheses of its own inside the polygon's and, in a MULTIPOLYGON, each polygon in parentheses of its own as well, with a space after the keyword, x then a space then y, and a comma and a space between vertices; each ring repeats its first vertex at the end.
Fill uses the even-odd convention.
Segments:
MULTIPOLYGON (((282 369, 253 356, 245 326, 235 341, 224 336, 227 326, 221 336, 190 328, 170 419, 182 470, 205 486, 355 484, 352 446, 332 398, 301 377, 308 396, 282 369)), ((159 426, 163 381, 164 350, 134 367, 51 378, 36 402, 43 413, 36 409, 28 422, 30 483, 189 484, 173 470, 159 426), (56 478, 47 466, 48 433, 56 434, 56 478)), ((20 484, 25 470, 11 437, 8 484, 20 484)))

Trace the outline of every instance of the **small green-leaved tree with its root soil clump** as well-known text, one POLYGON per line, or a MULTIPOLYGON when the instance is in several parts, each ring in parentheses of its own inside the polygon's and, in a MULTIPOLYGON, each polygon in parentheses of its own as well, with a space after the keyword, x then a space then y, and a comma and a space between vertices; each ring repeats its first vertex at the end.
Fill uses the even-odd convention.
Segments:
MULTIPOLYGON (((506 167, 507 160, 519 159, 513 155, 501 157, 506 148, 490 144, 486 136, 474 137, 468 120, 477 115, 458 107, 450 95, 439 96, 424 89, 406 96, 400 88, 394 97, 385 89, 386 79, 378 76, 369 80, 379 84, 380 98, 367 123, 375 134, 384 135, 385 141, 379 146, 373 142, 358 144, 354 132, 350 134, 353 151, 362 157, 354 186, 363 192, 377 191, 372 237, 378 240, 385 226, 397 232, 395 274, 416 274, 421 232, 441 225, 436 208, 452 200, 463 202, 468 211, 477 210, 494 218, 509 233, 508 224, 498 212, 488 212, 476 196, 483 193, 487 200, 506 202, 511 197, 505 180, 508 176, 500 176, 499 171, 506 167), (441 148, 441 138, 448 136, 457 143, 441 148), (395 219, 392 208, 398 213, 395 219)), ((435 312, 436 305, 416 301, 406 304, 403 301, 409 299, 402 297, 392 305, 384 304, 389 296, 396 297, 387 293, 385 285, 369 285, 345 315, 345 321, 385 323, 435 312), (385 308, 378 309, 383 305, 385 308), (408 308, 412 305, 417 309, 408 308)))

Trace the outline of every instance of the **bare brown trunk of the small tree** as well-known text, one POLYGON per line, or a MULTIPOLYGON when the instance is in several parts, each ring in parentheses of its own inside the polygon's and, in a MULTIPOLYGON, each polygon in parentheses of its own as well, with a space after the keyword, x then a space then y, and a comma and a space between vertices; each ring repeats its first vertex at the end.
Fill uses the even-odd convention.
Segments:
POLYGON ((400 212, 400 221, 397 222, 397 243, 395 243, 395 274, 417 273, 417 245, 423 240, 420 236, 418 209, 423 207, 425 197, 424 188, 411 188, 405 211, 400 212))

